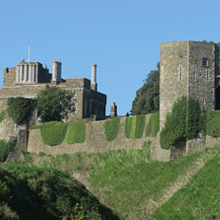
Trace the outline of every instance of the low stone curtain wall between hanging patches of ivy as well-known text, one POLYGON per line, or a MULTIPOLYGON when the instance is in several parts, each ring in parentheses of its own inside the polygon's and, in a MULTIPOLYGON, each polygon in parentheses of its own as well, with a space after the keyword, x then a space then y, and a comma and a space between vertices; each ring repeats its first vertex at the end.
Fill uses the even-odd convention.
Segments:
MULTIPOLYGON (((150 115, 146 116, 146 124, 149 121, 149 117, 150 115)), ((114 141, 106 140, 104 131, 105 121, 88 122, 86 127, 86 141, 82 144, 67 144, 64 141, 58 146, 45 145, 40 134, 40 129, 33 129, 30 130, 29 133, 28 151, 31 153, 44 152, 46 154, 57 155, 63 153, 71 154, 75 152, 104 152, 119 149, 140 149, 147 141, 154 142, 157 140, 157 138, 145 137, 145 131, 143 133, 143 137, 140 139, 126 138, 125 121, 125 117, 121 118, 119 135, 114 141)), ((154 158, 157 158, 156 153, 154 154, 154 158)))

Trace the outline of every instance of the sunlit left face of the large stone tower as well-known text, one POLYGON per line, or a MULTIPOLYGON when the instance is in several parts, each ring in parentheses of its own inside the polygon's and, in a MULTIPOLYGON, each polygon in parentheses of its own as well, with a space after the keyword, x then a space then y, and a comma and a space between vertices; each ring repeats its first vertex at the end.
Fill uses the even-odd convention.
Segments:
POLYGON ((189 42, 163 43, 160 47, 160 130, 177 98, 188 93, 189 42))

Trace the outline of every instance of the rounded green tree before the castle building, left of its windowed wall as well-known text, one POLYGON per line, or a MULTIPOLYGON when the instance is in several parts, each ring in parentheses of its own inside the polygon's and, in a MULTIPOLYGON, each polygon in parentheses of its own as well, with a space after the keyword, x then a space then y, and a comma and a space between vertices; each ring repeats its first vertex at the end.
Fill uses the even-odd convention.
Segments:
POLYGON ((61 121, 71 110, 74 93, 58 87, 46 87, 37 95, 37 107, 42 122, 61 121))

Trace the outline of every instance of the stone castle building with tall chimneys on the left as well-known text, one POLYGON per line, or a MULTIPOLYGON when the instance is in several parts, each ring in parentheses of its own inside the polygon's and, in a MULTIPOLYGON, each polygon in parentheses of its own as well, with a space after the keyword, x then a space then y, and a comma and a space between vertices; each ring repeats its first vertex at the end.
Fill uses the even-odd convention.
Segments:
MULTIPOLYGON (((92 81, 86 78, 62 79, 62 63, 53 62, 52 73, 39 62, 18 62, 16 67, 4 69, 4 83, 0 90, 0 112, 10 97, 36 98, 46 86, 54 86, 75 93, 70 118, 105 117, 106 95, 97 91, 96 64, 92 65, 92 81)), ((1 132, 1 131, 0 131, 1 132)), ((1 135, 0 135, 1 136, 1 135)))

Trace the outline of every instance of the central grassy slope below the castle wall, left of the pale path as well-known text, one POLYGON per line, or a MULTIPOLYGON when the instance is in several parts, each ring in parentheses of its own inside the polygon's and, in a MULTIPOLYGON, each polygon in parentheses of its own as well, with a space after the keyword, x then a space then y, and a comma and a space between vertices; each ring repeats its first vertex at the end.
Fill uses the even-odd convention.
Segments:
POLYGON ((43 166, 80 173, 93 192, 122 218, 145 219, 149 200, 158 201, 170 184, 215 150, 194 152, 170 162, 150 161, 148 148, 76 153, 47 159, 43 166))

